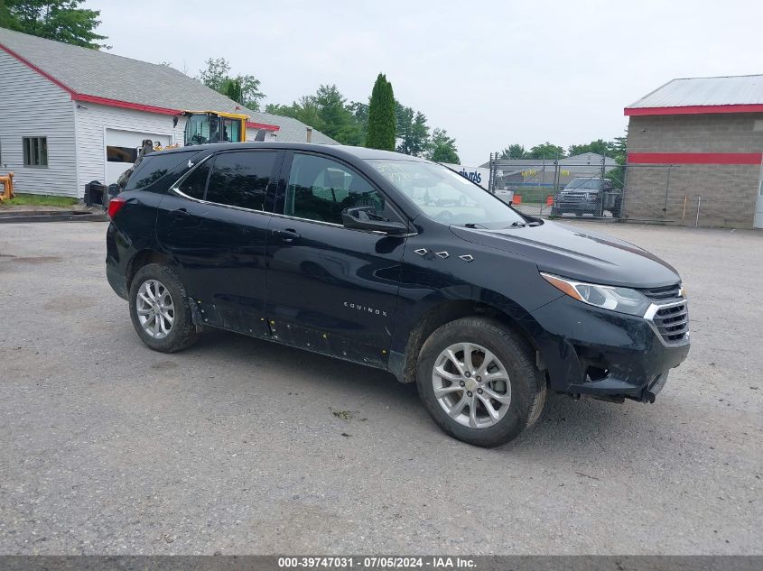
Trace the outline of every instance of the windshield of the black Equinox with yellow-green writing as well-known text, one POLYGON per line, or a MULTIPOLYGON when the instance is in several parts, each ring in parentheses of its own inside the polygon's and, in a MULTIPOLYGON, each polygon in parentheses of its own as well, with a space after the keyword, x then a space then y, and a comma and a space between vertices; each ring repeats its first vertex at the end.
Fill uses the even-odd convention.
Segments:
POLYGON ((526 219, 457 172, 433 162, 368 160, 410 198, 424 216, 445 224, 506 228, 526 219))

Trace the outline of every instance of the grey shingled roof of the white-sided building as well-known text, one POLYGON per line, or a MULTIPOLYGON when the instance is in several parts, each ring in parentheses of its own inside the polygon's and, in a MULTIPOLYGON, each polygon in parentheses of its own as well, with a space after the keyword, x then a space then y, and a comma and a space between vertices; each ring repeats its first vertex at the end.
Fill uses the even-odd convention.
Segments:
MULTIPOLYGON (((70 91, 75 99, 77 96, 95 97, 97 99, 90 100, 103 105, 125 102, 134 108, 149 107, 143 109, 149 112, 152 111, 150 107, 155 107, 156 112, 212 109, 243 113, 254 123, 277 125, 279 141, 302 142, 306 138, 307 125, 301 121, 239 106, 177 69, 5 28, 0 28, 0 48, 70 91)), ((312 142, 337 143, 315 129, 312 142)))

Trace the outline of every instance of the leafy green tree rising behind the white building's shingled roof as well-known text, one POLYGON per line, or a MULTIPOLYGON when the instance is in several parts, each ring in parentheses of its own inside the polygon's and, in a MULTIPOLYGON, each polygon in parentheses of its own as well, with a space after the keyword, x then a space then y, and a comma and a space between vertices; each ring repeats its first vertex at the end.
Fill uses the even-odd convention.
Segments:
POLYGON ((95 32, 100 10, 79 8, 81 0, 0 0, 0 27, 98 50, 109 46, 95 32))

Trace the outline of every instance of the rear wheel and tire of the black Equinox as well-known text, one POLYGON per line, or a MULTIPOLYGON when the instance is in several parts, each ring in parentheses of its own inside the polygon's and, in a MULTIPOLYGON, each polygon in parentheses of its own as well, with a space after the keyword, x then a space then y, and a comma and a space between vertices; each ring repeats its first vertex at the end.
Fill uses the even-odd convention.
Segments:
POLYGON ((180 278, 169 267, 161 263, 149 263, 138 270, 130 285, 129 302, 130 318, 135 332, 141 341, 154 351, 181 351, 193 345, 199 338, 199 332, 193 325, 188 295, 180 278), (158 303, 153 304, 152 295, 154 299, 158 299, 158 303), (154 314, 152 320, 152 312, 157 311, 157 307, 162 313, 154 314), (143 314, 139 315, 141 312, 143 314), (145 320, 145 327, 142 318, 145 320), (168 318, 172 318, 172 321, 168 318), (157 321, 161 327, 157 326, 157 321))

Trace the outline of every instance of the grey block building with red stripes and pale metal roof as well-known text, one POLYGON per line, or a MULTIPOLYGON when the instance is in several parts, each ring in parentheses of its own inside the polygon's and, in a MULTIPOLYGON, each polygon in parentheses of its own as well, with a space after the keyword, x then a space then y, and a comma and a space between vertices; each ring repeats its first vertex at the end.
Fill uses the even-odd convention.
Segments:
POLYGON ((625 115, 628 218, 763 227, 763 75, 674 79, 625 115))

